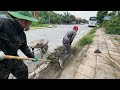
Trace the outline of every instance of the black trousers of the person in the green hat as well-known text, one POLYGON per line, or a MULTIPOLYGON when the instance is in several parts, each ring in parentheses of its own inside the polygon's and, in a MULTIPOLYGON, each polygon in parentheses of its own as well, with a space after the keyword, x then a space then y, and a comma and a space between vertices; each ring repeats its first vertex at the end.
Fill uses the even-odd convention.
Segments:
POLYGON ((17 79, 28 79, 28 68, 23 60, 0 61, 0 79, 8 79, 10 73, 17 79))

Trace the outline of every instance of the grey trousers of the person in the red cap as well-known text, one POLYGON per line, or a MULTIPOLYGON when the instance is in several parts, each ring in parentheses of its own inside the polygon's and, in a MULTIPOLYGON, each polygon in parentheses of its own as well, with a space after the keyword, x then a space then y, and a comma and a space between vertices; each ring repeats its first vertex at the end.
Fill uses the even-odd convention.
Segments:
POLYGON ((70 44, 63 44, 65 49, 64 49, 64 55, 61 57, 63 61, 67 60, 71 56, 71 45, 70 44))

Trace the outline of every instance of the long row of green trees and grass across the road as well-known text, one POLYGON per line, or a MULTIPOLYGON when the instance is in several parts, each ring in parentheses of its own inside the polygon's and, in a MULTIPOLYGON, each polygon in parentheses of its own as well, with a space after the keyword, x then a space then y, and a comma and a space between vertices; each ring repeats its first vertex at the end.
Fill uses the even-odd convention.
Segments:
MULTIPOLYGON (((69 12, 58 14, 53 11, 32 11, 33 15, 39 20, 39 22, 33 22, 31 27, 55 27, 56 24, 84 24, 88 23, 86 19, 75 17, 69 12)), ((4 14, 7 17, 7 11, 0 11, 0 14, 4 14)))

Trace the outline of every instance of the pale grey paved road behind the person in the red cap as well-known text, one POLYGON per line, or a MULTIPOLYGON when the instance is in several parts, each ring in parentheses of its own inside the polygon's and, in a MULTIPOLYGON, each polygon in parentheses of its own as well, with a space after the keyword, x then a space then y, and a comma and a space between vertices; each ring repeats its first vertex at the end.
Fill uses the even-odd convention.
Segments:
MULTIPOLYGON (((57 25, 55 28, 44 28, 37 30, 29 30, 26 31, 28 45, 30 42, 38 39, 46 39, 49 41, 49 49, 48 52, 52 52, 55 48, 62 45, 62 38, 65 33, 69 30, 72 30, 74 25, 57 25)), ((85 35, 89 30, 91 30, 88 25, 78 25, 79 30, 77 32, 77 36, 75 37, 73 44, 78 41, 83 35, 85 35)), ((73 45, 72 44, 72 45, 73 45)), ((21 51, 18 51, 20 56, 25 56, 21 51)), ((38 55, 37 55, 38 56, 38 55)), ((39 56, 38 56, 39 57, 39 56)), ((39 62, 33 63, 31 61, 25 61, 29 68, 29 72, 32 72, 39 62)))

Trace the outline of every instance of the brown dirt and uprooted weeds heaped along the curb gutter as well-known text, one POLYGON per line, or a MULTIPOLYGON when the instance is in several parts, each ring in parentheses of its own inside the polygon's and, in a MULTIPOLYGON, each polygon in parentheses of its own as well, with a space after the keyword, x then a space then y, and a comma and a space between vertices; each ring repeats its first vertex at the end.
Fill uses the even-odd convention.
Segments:
MULTIPOLYGON (((70 56, 69 60, 65 61, 65 66, 67 63, 71 60, 71 57, 73 57, 76 54, 76 49, 72 48, 72 55, 70 56)), ((37 73, 32 74, 30 79, 46 79, 46 78, 56 78, 59 73, 62 71, 59 65, 59 58, 64 55, 64 47, 59 46, 55 49, 54 52, 50 53, 47 57, 48 60, 51 60, 51 62, 45 67, 44 69, 40 70, 37 73)), ((43 64, 37 65, 37 69, 39 69, 43 64)))

